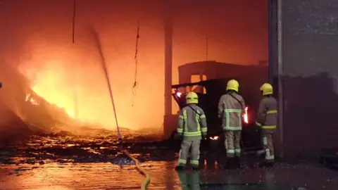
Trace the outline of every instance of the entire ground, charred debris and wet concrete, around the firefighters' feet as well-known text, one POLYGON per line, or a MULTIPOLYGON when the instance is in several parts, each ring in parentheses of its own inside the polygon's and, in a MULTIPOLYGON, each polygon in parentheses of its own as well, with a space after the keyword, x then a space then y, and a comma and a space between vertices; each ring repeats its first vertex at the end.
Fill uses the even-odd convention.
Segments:
MULTIPOLYGON (((144 177, 113 139, 57 135, 7 143, 0 148, 0 189, 139 189, 144 177)), ((338 189, 338 171, 316 162, 268 169, 257 167, 259 158, 245 156, 241 169, 225 170, 222 153, 202 153, 201 170, 176 172, 173 144, 125 139, 125 148, 151 175, 149 189, 338 189)))

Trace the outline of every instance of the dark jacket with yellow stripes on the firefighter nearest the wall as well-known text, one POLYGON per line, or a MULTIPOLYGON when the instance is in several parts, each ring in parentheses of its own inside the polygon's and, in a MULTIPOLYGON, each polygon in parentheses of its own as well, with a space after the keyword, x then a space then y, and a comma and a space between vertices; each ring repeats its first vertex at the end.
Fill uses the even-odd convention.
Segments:
POLYGON ((256 125, 265 132, 275 132, 277 128, 278 103, 272 96, 265 96, 259 103, 256 125))

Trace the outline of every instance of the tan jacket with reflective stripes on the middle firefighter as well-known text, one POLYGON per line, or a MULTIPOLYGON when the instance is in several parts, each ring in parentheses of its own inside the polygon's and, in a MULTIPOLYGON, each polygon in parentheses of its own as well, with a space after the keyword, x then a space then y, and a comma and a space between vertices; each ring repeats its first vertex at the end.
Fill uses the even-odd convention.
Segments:
POLYGON ((231 95, 225 94, 220 97, 218 118, 223 118, 222 127, 224 130, 242 130, 242 114, 245 108, 244 99, 237 93, 232 93, 231 95))

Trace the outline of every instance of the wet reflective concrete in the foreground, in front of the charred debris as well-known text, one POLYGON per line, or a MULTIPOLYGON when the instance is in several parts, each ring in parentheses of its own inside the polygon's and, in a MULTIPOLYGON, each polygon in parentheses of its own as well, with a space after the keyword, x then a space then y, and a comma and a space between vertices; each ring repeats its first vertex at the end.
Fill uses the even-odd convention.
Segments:
MULTIPOLYGON (((175 162, 143 163, 149 189, 337 189, 338 175, 311 164, 279 164, 273 169, 243 168, 176 172, 175 162)), ((217 167, 217 165, 216 165, 217 167)), ((134 166, 110 163, 1 165, 0 189, 138 189, 144 177, 134 166)))

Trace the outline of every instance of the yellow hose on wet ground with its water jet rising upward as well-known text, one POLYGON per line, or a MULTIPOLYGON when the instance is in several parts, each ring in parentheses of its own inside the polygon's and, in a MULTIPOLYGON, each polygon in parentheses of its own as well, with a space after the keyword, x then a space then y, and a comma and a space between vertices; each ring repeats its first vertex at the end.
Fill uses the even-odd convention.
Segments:
POLYGON ((101 64, 102 64, 102 68, 104 69, 104 74, 106 76, 106 81, 108 84, 108 89, 109 89, 109 94, 111 97, 111 104, 113 106, 113 111, 114 111, 114 116, 115 116, 115 122, 116 122, 116 127, 118 129, 118 143, 120 146, 121 151, 123 151, 130 159, 132 159, 137 167, 137 170, 139 170, 139 172, 142 173, 142 175, 144 175, 146 177, 146 179, 144 179, 144 181, 141 184, 141 189, 144 190, 146 189, 146 187, 148 186, 149 182, 150 182, 150 175, 148 172, 146 172, 146 170, 144 170, 143 167, 141 167, 139 165, 139 160, 137 160, 136 158, 134 158, 132 156, 132 154, 130 154, 127 150, 123 150, 123 141, 122 141, 122 136, 120 134, 120 127, 118 126, 118 117, 116 115, 116 109, 115 109, 115 103, 114 103, 114 99, 113 99, 113 91, 111 89, 111 82, 109 79, 109 75, 108 75, 108 70, 107 70, 107 66, 106 66, 106 60, 104 58, 104 53, 102 51, 102 47, 101 47, 101 43, 99 40, 99 35, 97 34, 97 32, 94 30, 94 28, 92 28, 92 34, 94 35, 95 38, 95 42, 96 42, 96 46, 99 49, 99 53, 100 53, 100 57, 101 57, 101 64))

